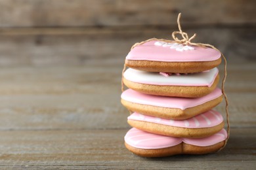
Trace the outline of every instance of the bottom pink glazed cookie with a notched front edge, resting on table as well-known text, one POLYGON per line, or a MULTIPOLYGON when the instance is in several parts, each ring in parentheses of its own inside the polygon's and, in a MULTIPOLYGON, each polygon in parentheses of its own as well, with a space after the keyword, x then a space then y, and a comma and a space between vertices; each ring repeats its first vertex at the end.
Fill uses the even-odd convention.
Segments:
POLYGON ((144 157, 208 154, 222 148, 226 137, 224 129, 210 137, 189 139, 156 135, 132 128, 125 135, 125 146, 134 154, 144 157))

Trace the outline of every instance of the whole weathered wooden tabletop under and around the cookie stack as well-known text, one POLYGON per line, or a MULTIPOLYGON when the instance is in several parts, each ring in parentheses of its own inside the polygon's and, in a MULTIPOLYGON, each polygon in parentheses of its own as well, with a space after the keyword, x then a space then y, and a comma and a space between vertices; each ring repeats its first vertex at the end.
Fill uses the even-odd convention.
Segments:
MULTIPOLYGON (((0 68, 0 168, 256 167, 255 62, 228 65, 231 132, 226 148, 168 158, 140 158, 125 148, 130 127, 120 103, 121 69, 121 61, 0 68)), ((224 115, 224 103, 216 109, 224 115)))

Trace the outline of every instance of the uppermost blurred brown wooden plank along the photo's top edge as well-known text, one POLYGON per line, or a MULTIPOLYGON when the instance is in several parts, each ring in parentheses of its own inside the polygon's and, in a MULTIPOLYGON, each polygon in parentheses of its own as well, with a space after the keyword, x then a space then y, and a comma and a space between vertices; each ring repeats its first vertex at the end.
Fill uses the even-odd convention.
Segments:
POLYGON ((253 0, 1 0, 1 27, 255 24, 253 0), (200 9, 200 10, 198 10, 200 9), (22 18, 22 19, 21 19, 22 18))

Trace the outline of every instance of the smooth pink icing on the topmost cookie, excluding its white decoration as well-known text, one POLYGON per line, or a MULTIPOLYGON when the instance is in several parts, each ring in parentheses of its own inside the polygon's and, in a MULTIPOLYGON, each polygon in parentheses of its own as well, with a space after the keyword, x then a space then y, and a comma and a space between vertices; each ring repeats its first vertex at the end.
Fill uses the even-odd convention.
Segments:
POLYGON ((202 48, 193 46, 194 50, 177 51, 168 47, 154 45, 156 41, 148 41, 139 46, 135 46, 126 59, 129 60, 147 60, 147 61, 213 61, 221 57, 221 53, 213 48, 202 48))

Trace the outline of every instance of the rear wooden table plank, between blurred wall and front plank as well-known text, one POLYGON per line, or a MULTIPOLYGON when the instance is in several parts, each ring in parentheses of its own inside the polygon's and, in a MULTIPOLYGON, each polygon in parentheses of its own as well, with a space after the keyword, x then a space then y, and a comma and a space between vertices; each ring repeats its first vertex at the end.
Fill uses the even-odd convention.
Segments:
MULTIPOLYGON (((232 127, 255 127, 255 63, 228 65, 232 127), (238 71, 239 70, 239 71, 238 71)), ((121 63, 0 68, 0 130, 123 129, 121 63)), ((221 75, 223 75, 223 67, 221 75)), ((224 115, 224 102, 215 108, 224 115)))

